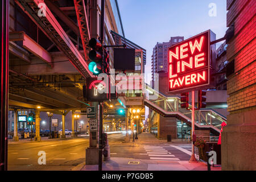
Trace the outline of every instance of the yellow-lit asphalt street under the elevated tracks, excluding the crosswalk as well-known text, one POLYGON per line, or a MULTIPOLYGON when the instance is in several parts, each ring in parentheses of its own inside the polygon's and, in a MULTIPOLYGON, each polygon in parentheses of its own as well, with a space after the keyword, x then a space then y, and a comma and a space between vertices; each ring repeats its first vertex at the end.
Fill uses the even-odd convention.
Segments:
MULTIPOLYGON (((110 134, 109 143, 123 140, 123 134, 110 134)), ((85 162, 89 137, 75 139, 45 139, 42 142, 9 142, 8 170, 71 170, 85 162), (39 151, 46 152, 46 165, 39 165, 39 151)))

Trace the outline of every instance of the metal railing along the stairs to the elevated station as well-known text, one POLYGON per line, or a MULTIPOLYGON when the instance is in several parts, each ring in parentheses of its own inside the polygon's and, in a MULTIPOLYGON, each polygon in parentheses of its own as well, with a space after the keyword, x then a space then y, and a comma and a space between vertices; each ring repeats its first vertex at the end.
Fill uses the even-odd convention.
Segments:
MULTIPOLYGON (((144 94, 144 102, 147 102, 147 104, 156 107, 156 109, 163 110, 166 114, 179 113, 184 118, 192 118, 192 106, 189 104, 189 110, 181 108, 180 97, 164 96, 164 94, 152 89, 148 85, 146 85, 146 90, 148 93, 144 94)), ((226 122, 226 118, 212 109, 200 109, 195 110, 195 122, 197 126, 213 126, 219 131, 221 123, 226 122)))

